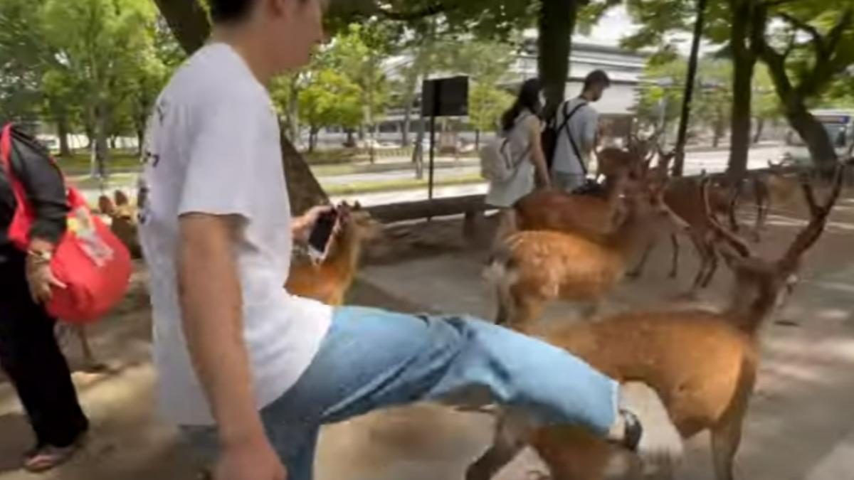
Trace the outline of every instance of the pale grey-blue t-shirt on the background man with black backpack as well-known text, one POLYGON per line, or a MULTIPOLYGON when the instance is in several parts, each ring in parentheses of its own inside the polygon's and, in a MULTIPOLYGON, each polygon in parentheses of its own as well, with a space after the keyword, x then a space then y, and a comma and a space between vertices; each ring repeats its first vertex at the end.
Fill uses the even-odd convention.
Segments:
MULTIPOLYGON (((571 114, 582 102, 587 102, 581 98, 573 98, 560 106, 557 116, 558 126, 563 125, 564 114, 571 114), (564 107, 565 106, 565 107, 564 107), (568 107, 568 108, 566 108, 568 107)), ((590 166, 590 150, 593 149, 596 141, 596 130, 599 127, 599 113, 589 103, 579 108, 570 118, 569 123, 570 134, 576 142, 578 151, 582 154, 584 166, 590 166)), ((553 170, 559 173, 569 173, 573 175, 582 175, 581 164, 578 162, 578 156, 572 149, 570 138, 566 134, 567 128, 559 132, 558 144, 554 151, 553 170)))

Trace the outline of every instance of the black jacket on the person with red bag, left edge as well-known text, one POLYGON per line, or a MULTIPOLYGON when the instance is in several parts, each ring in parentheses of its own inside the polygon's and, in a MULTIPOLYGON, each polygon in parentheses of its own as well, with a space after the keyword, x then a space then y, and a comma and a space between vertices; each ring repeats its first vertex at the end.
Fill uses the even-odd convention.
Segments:
MULTIPOLYGON (((65 233, 68 215, 65 183, 59 167, 50 161, 50 154, 35 138, 12 128, 10 151, 12 171, 23 184, 28 202, 36 213, 30 237, 51 243, 59 242, 65 233)), ((6 169, 0 164, 0 249, 9 248, 7 232, 15 215, 17 202, 6 169)))

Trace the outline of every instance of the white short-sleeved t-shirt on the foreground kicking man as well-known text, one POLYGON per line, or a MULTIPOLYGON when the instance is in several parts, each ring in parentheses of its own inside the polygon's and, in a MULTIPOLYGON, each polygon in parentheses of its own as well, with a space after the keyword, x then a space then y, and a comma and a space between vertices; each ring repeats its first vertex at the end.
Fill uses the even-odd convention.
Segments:
POLYGON ((259 409, 296 382, 329 329, 331 307, 290 296, 293 239, 272 101, 235 50, 210 44, 178 70, 149 120, 140 237, 151 277, 161 412, 213 424, 190 364, 176 282, 178 216, 237 215, 243 337, 259 409))

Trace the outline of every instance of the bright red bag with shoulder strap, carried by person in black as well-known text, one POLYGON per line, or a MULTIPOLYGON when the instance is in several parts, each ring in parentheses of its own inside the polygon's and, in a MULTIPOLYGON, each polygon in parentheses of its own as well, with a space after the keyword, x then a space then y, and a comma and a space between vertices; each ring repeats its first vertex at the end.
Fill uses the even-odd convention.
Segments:
MULTIPOLYGON (((9 225, 9 240, 26 251, 35 214, 26 201, 23 185, 12 171, 11 128, 5 126, 0 136, 0 158, 18 204, 9 225)), ((45 160, 54 161, 50 157, 45 160)), ((54 288, 45 307, 56 319, 87 324, 101 319, 125 296, 131 278, 131 255, 107 225, 91 214, 84 196, 70 187, 67 191, 70 208, 67 231, 50 261, 56 279, 67 288, 54 288)))

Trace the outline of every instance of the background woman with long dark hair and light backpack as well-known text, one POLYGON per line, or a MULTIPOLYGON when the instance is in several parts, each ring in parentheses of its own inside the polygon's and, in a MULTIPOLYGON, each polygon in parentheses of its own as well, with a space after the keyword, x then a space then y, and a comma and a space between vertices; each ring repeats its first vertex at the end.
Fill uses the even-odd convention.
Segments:
POLYGON ((541 92, 538 79, 525 81, 516 102, 501 117, 500 156, 508 173, 506 178, 490 179, 486 203, 491 207, 511 208, 535 189, 535 175, 542 186, 551 184, 541 145, 541 92))

